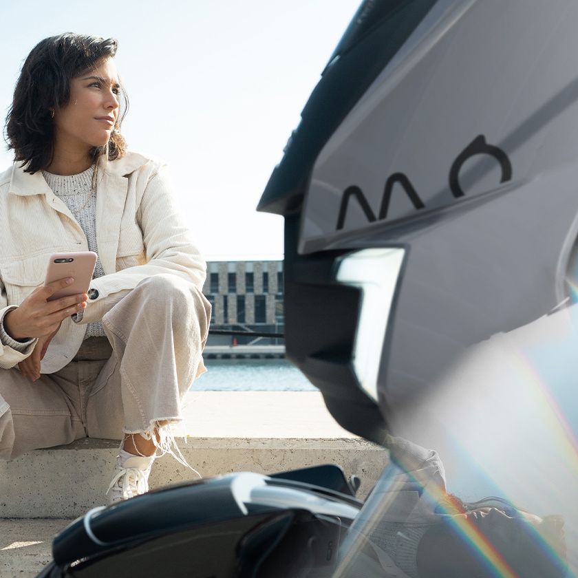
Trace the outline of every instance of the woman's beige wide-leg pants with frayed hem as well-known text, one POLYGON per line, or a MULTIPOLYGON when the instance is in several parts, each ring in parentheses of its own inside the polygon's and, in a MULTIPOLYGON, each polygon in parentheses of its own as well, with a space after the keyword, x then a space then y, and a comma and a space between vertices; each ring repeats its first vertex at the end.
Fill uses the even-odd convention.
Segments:
POLYGON ((151 434, 180 420, 181 402, 204 372, 211 304, 175 275, 141 281, 103 317, 107 337, 86 339, 74 359, 32 383, 0 370, 0 458, 79 438, 151 434))

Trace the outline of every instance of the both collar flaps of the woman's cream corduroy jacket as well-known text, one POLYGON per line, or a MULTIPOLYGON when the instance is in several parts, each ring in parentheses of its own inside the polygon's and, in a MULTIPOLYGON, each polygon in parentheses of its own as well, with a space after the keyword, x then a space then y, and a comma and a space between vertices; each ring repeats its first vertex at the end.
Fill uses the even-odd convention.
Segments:
MULTIPOLYGON (((107 160, 107 158, 100 158, 98 161, 98 171, 103 171, 111 176, 124 177, 136 169, 142 167, 147 162, 147 158, 138 153, 127 153, 124 157, 118 160, 107 160)), ((52 189, 41 171, 37 171, 34 175, 25 173, 20 166, 20 162, 14 162, 12 165, 12 178, 10 179, 10 193, 14 195, 49 195, 52 189)))

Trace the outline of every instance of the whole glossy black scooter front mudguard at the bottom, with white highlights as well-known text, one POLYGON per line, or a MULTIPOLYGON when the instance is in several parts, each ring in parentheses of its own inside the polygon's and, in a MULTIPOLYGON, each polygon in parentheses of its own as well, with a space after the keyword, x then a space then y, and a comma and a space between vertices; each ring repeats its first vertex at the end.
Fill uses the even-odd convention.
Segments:
POLYGON ((318 516, 296 508, 256 504, 247 501, 247 489, 264 484, 283 486, 303 491, 304 503, 307 494, 311 493, 356 508, 361 508, 361 502, 303 482, 271 480, 257 474, 249 474, 255 478, 247 481, 244 475, 173 486, 109 506, 94 517, 88 513, 54 539, 54 563, 40 576, 124 576, 123 572, 136 571, 137 560, 143 571, 154 570, 151 575, 163 575, 169 564, 171 577, 279 576, 278 571, 272 572, 277 564, 269 559, 274 553, 275 557, 286 557, 303 568, 309 568, 311 564, 320 568, 333 564, 332 553, 338 546, 341 525, 348 525, 350 520, 318 516), (265 531, 264 528, 269 529, 265 531), (296 555, 292 548, 301 544, 300 536, 308 536, 308 546, 300 549, 303 555, 296 555), (262 559, 256 564, 255 544, 264 544, 265 539, 270 544, 268 554, 261 553, 262 559), (197 553, 196 557, 193 553, 197 553), (126 559, 131 560, 132 567, 125 565, 126 559), (248 559, 250 564, 246 562, 248 559), (192 572, 193 567, 195 572, 192 572), (122 572, 121 568, 124 568, 122 572), (260 573, 251 574, 252 568, 261 568, 260 573), (241 570, 244 573, 239 573, 241 570))

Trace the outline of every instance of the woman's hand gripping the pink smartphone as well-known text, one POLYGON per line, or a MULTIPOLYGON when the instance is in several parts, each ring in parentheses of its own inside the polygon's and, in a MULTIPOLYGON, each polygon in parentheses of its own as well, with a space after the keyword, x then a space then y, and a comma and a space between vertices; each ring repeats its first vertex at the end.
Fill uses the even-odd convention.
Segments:
POLYGON ((58 279, 34 290, 17 309, 9 311, 4 317, 4 329, 8 335, 12 339, 54 335, 63 319, 86 308, 86 293, 47 301, 56 291, 69 286, 73 281, 72 277, 58 279))

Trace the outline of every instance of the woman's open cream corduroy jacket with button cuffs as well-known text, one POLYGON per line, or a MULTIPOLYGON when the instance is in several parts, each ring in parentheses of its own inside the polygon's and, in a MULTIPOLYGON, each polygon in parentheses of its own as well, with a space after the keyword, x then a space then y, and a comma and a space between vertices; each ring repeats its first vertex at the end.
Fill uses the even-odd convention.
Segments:
MULTIPOLYGON (((41 364, 60 370, 81 346, 86 323, 100 321, 146 277, 172 273, 201 291, 206 263, 184 226, 171 195, 166 165, 137 153, 101 160, 96 186, 96 240, 105 276, 93 279, 98 298, 89 300, 81 323, 65 319, 41 364)), ((81 226, 56 197, 42 173, 18 163, 0 175, 0 317, 44 282, 52 253, 88 250, 81 226)), ((0 343, 0 367, 28 357, 0 343)))

